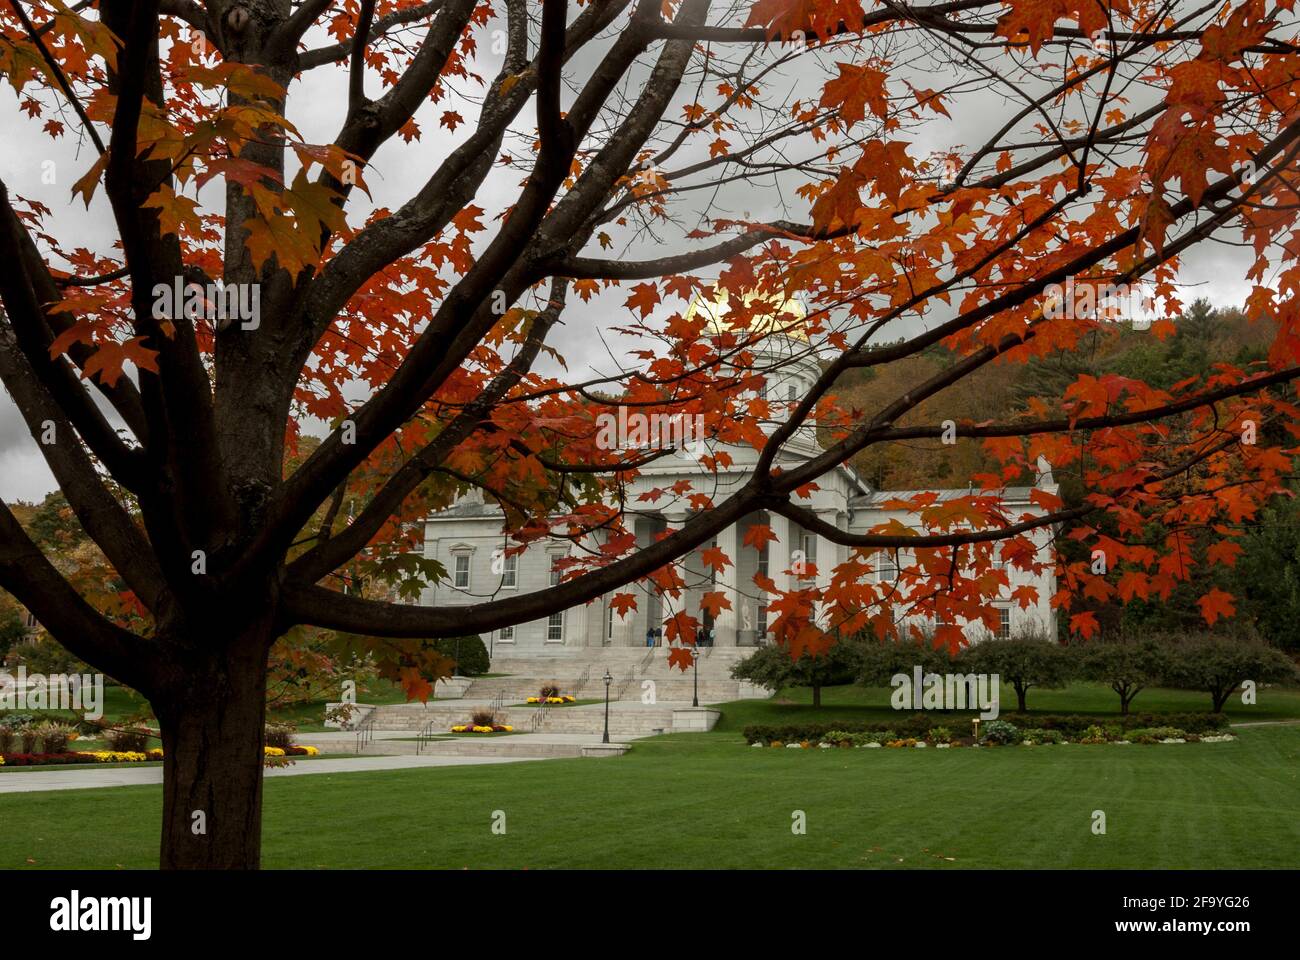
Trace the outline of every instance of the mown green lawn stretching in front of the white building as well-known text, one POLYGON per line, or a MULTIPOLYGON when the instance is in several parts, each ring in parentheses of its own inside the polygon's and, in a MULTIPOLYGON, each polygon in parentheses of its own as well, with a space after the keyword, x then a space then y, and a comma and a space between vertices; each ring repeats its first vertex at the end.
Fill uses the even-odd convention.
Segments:
MULTIPOLYGON (((1089 692, 1075 689, 1067 705, 1091 709, 1089 692)), ((870 691, 826 699, 831 718, 878 709, 870 691)), ((1262 700, 1251 718, 1300 714, 1294 692, 1262 700)), ((1152 692, 1139 708, 1196 702, 1152 692)), ((1300 848, 1300 726, 1152 747, 792 751, 740 739, 744 723, 790 712, 812 713, 728 704, 711 734, 638 741, 608 760, 273 778, 264 862, 1214 869, 1294 868, 1300 848), (1105 836, 1091 830, 1098 809, 1105 836), (494 810, 506 813, 506 835, 491 833, 494 810), (790 831, 796 810, 807 817, 806 835, 790 831)), ((0 868, 152 866, 160 799, 157 787, 0 795, 0 868)))

